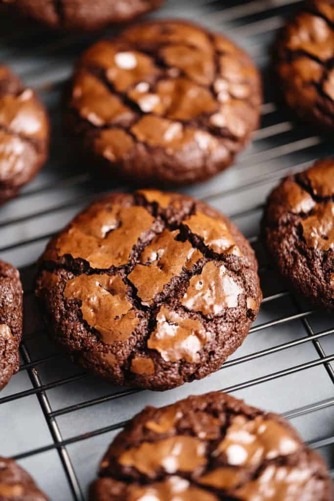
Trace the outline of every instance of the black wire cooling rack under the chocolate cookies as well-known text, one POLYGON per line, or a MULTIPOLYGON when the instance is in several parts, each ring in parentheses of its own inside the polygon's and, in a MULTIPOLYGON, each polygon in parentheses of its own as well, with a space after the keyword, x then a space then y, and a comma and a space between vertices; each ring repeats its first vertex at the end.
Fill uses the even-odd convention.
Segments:
MULTIPOLYGON (((232 217, 259 261, 263 304, 241 348, 204 380, 164 393, 112 387, 85 374, 49 342, 33 295, 34 263, 49 237, 106 186, 73 156, 60 126, 60 97, 80 52, 102 35, 50 35, 0 20, 0 60, 34 86, 49 108, 49 162, 20 197, 0 209, 0 258, 20 268, 25 334, 20 372, 0 394, 0 454, 14 456, 52 501, 86 499, 87 486, 113 436, 145 405, 225 390, 283 413, 334 473, 334 318, 290 294, 258 240, 269 190, 288 171, 334 154, 334 144, 291 121, 268 84, 269 48, 294 0, 169 0, 155 16, 184 17, 230 36, 263 72, 262 125, 236 165, 185 191, 232 217)), ((109 31, 110 33, 110 31, 109 31)), ((122 186, 122 189, 125 189, 122 186)))

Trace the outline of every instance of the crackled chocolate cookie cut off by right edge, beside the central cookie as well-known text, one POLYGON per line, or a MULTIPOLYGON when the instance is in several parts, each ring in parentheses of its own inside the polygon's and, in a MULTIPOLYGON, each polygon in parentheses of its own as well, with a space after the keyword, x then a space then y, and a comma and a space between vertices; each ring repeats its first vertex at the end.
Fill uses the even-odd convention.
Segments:
POLYGON ((334 159, 286 177, 270 194, 264 238, 278 271, 312 303, 334 308, 334 159))

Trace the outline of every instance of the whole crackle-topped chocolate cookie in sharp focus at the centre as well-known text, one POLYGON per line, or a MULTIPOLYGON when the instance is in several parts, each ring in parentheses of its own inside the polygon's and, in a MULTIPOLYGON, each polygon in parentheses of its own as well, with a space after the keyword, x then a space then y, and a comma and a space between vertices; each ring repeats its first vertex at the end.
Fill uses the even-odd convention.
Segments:
POLYGON ((110 194, 51 240, 40 265, 53 338, 117 384, 164 390, 219 369, 261 302, 248 241, 185 195, 110 194))

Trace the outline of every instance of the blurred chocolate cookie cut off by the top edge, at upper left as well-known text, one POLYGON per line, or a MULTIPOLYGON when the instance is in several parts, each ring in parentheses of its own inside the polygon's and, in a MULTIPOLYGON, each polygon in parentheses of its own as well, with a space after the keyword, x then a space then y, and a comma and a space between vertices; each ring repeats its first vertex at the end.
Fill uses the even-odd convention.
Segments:
POLYGON ((156 9, 163 0, 0 0, 9 13, 56 30, 90 31, 125 23, 156 9))

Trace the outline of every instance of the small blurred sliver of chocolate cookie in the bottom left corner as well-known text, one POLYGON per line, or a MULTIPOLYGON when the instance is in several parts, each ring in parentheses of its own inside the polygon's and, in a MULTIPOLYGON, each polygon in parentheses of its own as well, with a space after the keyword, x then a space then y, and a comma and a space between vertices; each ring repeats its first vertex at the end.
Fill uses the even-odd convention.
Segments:
POLYGON ((13 459, 0 457, 0 501, 48 501, 48 498, 13 459))

